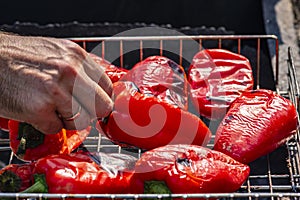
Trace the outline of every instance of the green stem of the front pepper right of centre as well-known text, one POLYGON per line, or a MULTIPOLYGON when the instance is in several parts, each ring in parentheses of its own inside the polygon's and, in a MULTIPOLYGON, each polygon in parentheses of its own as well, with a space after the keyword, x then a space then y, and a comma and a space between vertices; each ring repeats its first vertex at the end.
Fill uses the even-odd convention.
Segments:
MULTIPOLYGON (((172 194, 164 181, 145 181, 144 183, 145 194, 172 194)), ((163 198, 163 199, 171 199, 163 198)))

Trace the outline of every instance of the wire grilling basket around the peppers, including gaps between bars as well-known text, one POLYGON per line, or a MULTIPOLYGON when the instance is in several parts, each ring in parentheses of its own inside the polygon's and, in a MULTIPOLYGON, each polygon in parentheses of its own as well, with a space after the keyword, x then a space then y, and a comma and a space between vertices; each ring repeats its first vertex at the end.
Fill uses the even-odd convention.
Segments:
MULTIPOLYGON (((292 49, 289 49, 287 63, 279 66, 278 48, 279 41, 274 35, 180 35, 180 36, 115 36, 115 37, 77 37, 69 38, 78 43, 89 52, 111 61, 112 63, 130 68, 132 63, 142 60, 149 55, 163 55, 170 57, 183 67, 187 67, 191 55, 203 48, 226 48, 249 58, 255 78, 256 88, 272 89, 280 95, 290 99, 297 108, 298 118, 299 106, 299 85, 296 79, 293 62, 292 49), (272 43, 275 52, 274 59, 271 60, 272 74, 265 73, 268 61, 264 61, 263 43, 272 43), (191 43, 193 43, 192 48, 191 43), (196 44, 196 46, 194 46, 196 44), (172 52, 169 51, 172 49, 172 52), (112 55, 111 52, 114 52, 112 55), (249 57, 251 52, 251 57, 249 57), (279 76, 281 68, 288 68, 286 83, 287 90, 280 90, 278 82, 282 78, 279 76), (271 81, 270 81, 271 80, 271 81)), ((191 110, 192 111, 192 110, 191 110)), ((205 121, 212 132, 218 126, 218 122, 205 121)), ((58 198, 65 199, 72 197, 84 199, 139 199, 139 198, 204 198, 204 199, 300 199, 300 132, 292 137, 285 145, 279 147, 269 155, 261 157, 250 163, 251 173, 244 185, 234 193, 222 194, 20 194, 20 193, 0 193, 1 198, 15 199, 42 199, 58 198)), ((208 147, 213 146, 212 138, 208 147)), ((11 155, 4 164, 18 162, 11 154, 9 139, 0 140, 0 153, 11 155)), ((121 148, 110 142, 104 136, 99 136, 96 132, 91 133, 84 142, 84 147, 89 151, 128 153, 139 157, 141 150, 128 150, 121 148)))

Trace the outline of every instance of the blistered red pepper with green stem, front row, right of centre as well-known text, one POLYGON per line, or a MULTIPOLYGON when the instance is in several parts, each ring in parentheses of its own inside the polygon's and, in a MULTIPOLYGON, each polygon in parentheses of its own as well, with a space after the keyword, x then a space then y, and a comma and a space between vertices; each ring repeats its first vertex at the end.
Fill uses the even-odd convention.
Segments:
POLYGON ((235 192, 250 173, 248 165, 205 147, 166 145, 142 154, 132 186, 138 193, 235 192))

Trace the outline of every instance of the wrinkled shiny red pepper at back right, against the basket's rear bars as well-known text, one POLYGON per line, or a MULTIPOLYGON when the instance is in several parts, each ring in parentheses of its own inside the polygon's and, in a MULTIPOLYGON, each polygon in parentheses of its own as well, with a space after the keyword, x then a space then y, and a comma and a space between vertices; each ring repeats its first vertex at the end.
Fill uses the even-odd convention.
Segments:
POLYGON ((224 49, 198 52, 188 71, 190 96, 195 109, 208 119, 222 119, 232 101, 253 89, 249 60, 224 49))

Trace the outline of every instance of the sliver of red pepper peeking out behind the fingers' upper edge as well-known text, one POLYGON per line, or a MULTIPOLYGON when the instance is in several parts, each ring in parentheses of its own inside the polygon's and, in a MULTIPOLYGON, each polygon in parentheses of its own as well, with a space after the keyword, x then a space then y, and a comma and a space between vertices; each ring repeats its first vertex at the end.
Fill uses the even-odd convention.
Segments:
POLYGON ((120 68, 120 67, 117 67, 117 66, 111 64, 110 62, 108 62, 104 58, 97 56, 96 54, 89 53, 89 55, 98 65, 100 65, 101 67, 103 67, 105 69, 105 73, 108 75, 108 77, 110 78, 110 80, 113 83, 117 82, 128 71, 125 68, 120 68))

